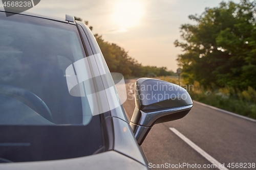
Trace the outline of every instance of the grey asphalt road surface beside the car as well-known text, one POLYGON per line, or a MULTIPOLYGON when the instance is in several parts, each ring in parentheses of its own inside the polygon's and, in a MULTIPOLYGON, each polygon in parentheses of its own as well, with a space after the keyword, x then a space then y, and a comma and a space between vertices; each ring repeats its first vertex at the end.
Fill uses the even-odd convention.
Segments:
MULTIPOLYGON (((132 95, 134 82, 125 80, 128 95, 123 106, 130 118, 135 107, 132 95)), ((187 163, 190 168, 184 164, 178 168, 153 169, 219 169, 203 168, 203 165, 209 166, 211 163, 169 128, 178 130, 227 169, 256 169, 248 168, 249 163, 256 163, 256 122, 196 103, 184 118, 155 125, 142 143, 148 162, 152 165, 187 163), (243 164, 239 164, 239 168, 227 167, 231 163, 243 164)))

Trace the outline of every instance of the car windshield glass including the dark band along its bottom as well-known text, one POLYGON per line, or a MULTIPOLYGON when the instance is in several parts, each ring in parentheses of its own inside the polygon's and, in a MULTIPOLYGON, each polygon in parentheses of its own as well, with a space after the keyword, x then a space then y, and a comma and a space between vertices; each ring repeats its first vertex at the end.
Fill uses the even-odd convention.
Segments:
POLYGON ((81 157, 103 147, 100 115, 68 81, 87 58, 76 25, 0 12, 0 163, 81 157))

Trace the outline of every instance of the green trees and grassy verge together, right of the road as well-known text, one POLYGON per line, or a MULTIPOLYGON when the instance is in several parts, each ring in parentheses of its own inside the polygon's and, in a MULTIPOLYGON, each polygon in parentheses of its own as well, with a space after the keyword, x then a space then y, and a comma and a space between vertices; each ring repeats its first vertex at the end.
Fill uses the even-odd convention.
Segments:
POLYGON ((174 44, 183 49, 181 84, 194 85, 193 100, 256 118, 255 12, 255 1, 222 2, 181 26, 174 44))

